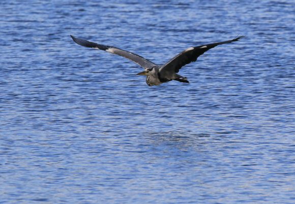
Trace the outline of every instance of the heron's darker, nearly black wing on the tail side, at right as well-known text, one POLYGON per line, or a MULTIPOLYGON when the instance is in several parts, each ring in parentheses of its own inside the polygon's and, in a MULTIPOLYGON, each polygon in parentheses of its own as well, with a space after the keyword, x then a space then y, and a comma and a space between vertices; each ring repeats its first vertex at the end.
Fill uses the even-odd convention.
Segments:
POLYGON ((202 55, 205 51, 210 50, 213 47, 216 47, 217 45, 222 45, 226 43, 231 43, 234 41, 238 41, 241 38, 244 38, 245 36, 240 36, 237 38, 234 38, 232 40, 219 42, 219 43, 212 43, 212 44, 206 44, 206 45, 200 45, 196 47, 190 47, 183 52, 179 53, 178 55, 174 56, 169 62, 167 62, 165 65, 163 65, 160 69, 160 73, 162 72, 171 72, 174 71, 175 73, 178 73, 179 70, 191 63, 195 62, 198 58, 198 56, 202 55))

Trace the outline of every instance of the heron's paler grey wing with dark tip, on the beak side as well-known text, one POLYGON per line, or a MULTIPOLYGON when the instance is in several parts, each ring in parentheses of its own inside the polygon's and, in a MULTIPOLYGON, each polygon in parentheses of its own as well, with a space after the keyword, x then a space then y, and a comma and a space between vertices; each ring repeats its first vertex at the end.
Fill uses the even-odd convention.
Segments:
POLYGON ((101 50, 110 52, 112 54, 124 56, 127 59, 131 60, 132 62, 136 63, 137 65, 139 65, 145 69, 149 69, 149 68, 157 66, 156 64, 150 62, 149 60, 144 59, 142 56, 139 56, 138 54, 134 54, 132 52, 129 52, 129 51, 117 48, 117 47, 108 46, 108 45, 100 45, 100 44, 93 43, 93 42, 90 42, 87 40, 75 38, 72 35, 71 35, 71 37, 74 40, 74 42, 79 45, 82 45, 84 47, 91 47, 94 49, 101 49, 101 50))

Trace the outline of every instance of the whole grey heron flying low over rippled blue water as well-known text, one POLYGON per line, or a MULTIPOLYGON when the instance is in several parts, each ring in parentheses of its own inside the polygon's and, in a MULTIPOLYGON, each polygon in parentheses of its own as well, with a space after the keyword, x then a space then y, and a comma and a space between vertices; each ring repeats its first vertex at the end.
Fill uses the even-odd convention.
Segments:
POLYGON ((131 60, 132 62, 138 64, 139 66, 144 68, 144 71, 138 73, 137 75, 145 75, 147 85, 153 86, 153 85, 160 85, 161 83, 168 82, 171 80, 189 83, 189 81, 187 80, 187 77, 183 77, 178 74, 179 70, 183 66, 191 62, 195 62, 198 56, 202 55, 205 51, 208 51, 209 49, 216 47, 217 45, 238 41, 245 36, 240 36, 232 40, 218 42, 218 43, 211 43, 211 44, 199 45, 196 47, 189 47, 183 52, 174 56, 171 60, 169 60, 164 65, 154 64, 151 61, 146 60, 142 56, 139 56, 138 54, 135 54, 117 47, 100 45, 87 40, 75 38, 72 35, 71 37, 74 40, 74 42, 79 45, 82 45, 85 47, 91 47, 94 49, 100 49, 100 50, 110 52, 112 54, 124 56, 127 59, 131 60))

